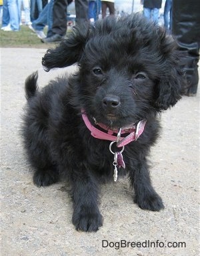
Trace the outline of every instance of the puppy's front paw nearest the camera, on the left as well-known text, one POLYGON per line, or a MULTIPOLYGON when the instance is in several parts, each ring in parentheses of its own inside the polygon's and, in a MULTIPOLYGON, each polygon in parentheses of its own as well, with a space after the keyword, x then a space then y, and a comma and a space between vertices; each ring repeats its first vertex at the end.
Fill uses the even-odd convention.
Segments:
POLYGON ((77 231, 97 231, 103 225, 103 217, 100 213, 73 213, 73 225, 77 231))

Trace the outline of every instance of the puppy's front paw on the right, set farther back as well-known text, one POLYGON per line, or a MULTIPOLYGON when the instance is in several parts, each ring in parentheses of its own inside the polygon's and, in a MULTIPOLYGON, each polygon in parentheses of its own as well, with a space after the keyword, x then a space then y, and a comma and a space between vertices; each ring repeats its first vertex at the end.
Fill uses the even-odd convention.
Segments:
POLYGON ((137 203, 141 209, 150 211, 160 211, 164 209, 163 201, 156 192, 135 196, 134 202, 137 203))

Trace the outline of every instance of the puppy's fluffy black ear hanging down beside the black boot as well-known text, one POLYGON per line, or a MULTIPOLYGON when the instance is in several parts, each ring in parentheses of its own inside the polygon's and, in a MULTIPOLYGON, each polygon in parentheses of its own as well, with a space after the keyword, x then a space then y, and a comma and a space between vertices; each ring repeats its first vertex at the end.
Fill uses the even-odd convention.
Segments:
POLYGON ((157 83, 155 107, 160 111, 173 107, 185 89, 185 77, 181 55, 177 44, 170 35, 161 39, 161 77, 157 83))

